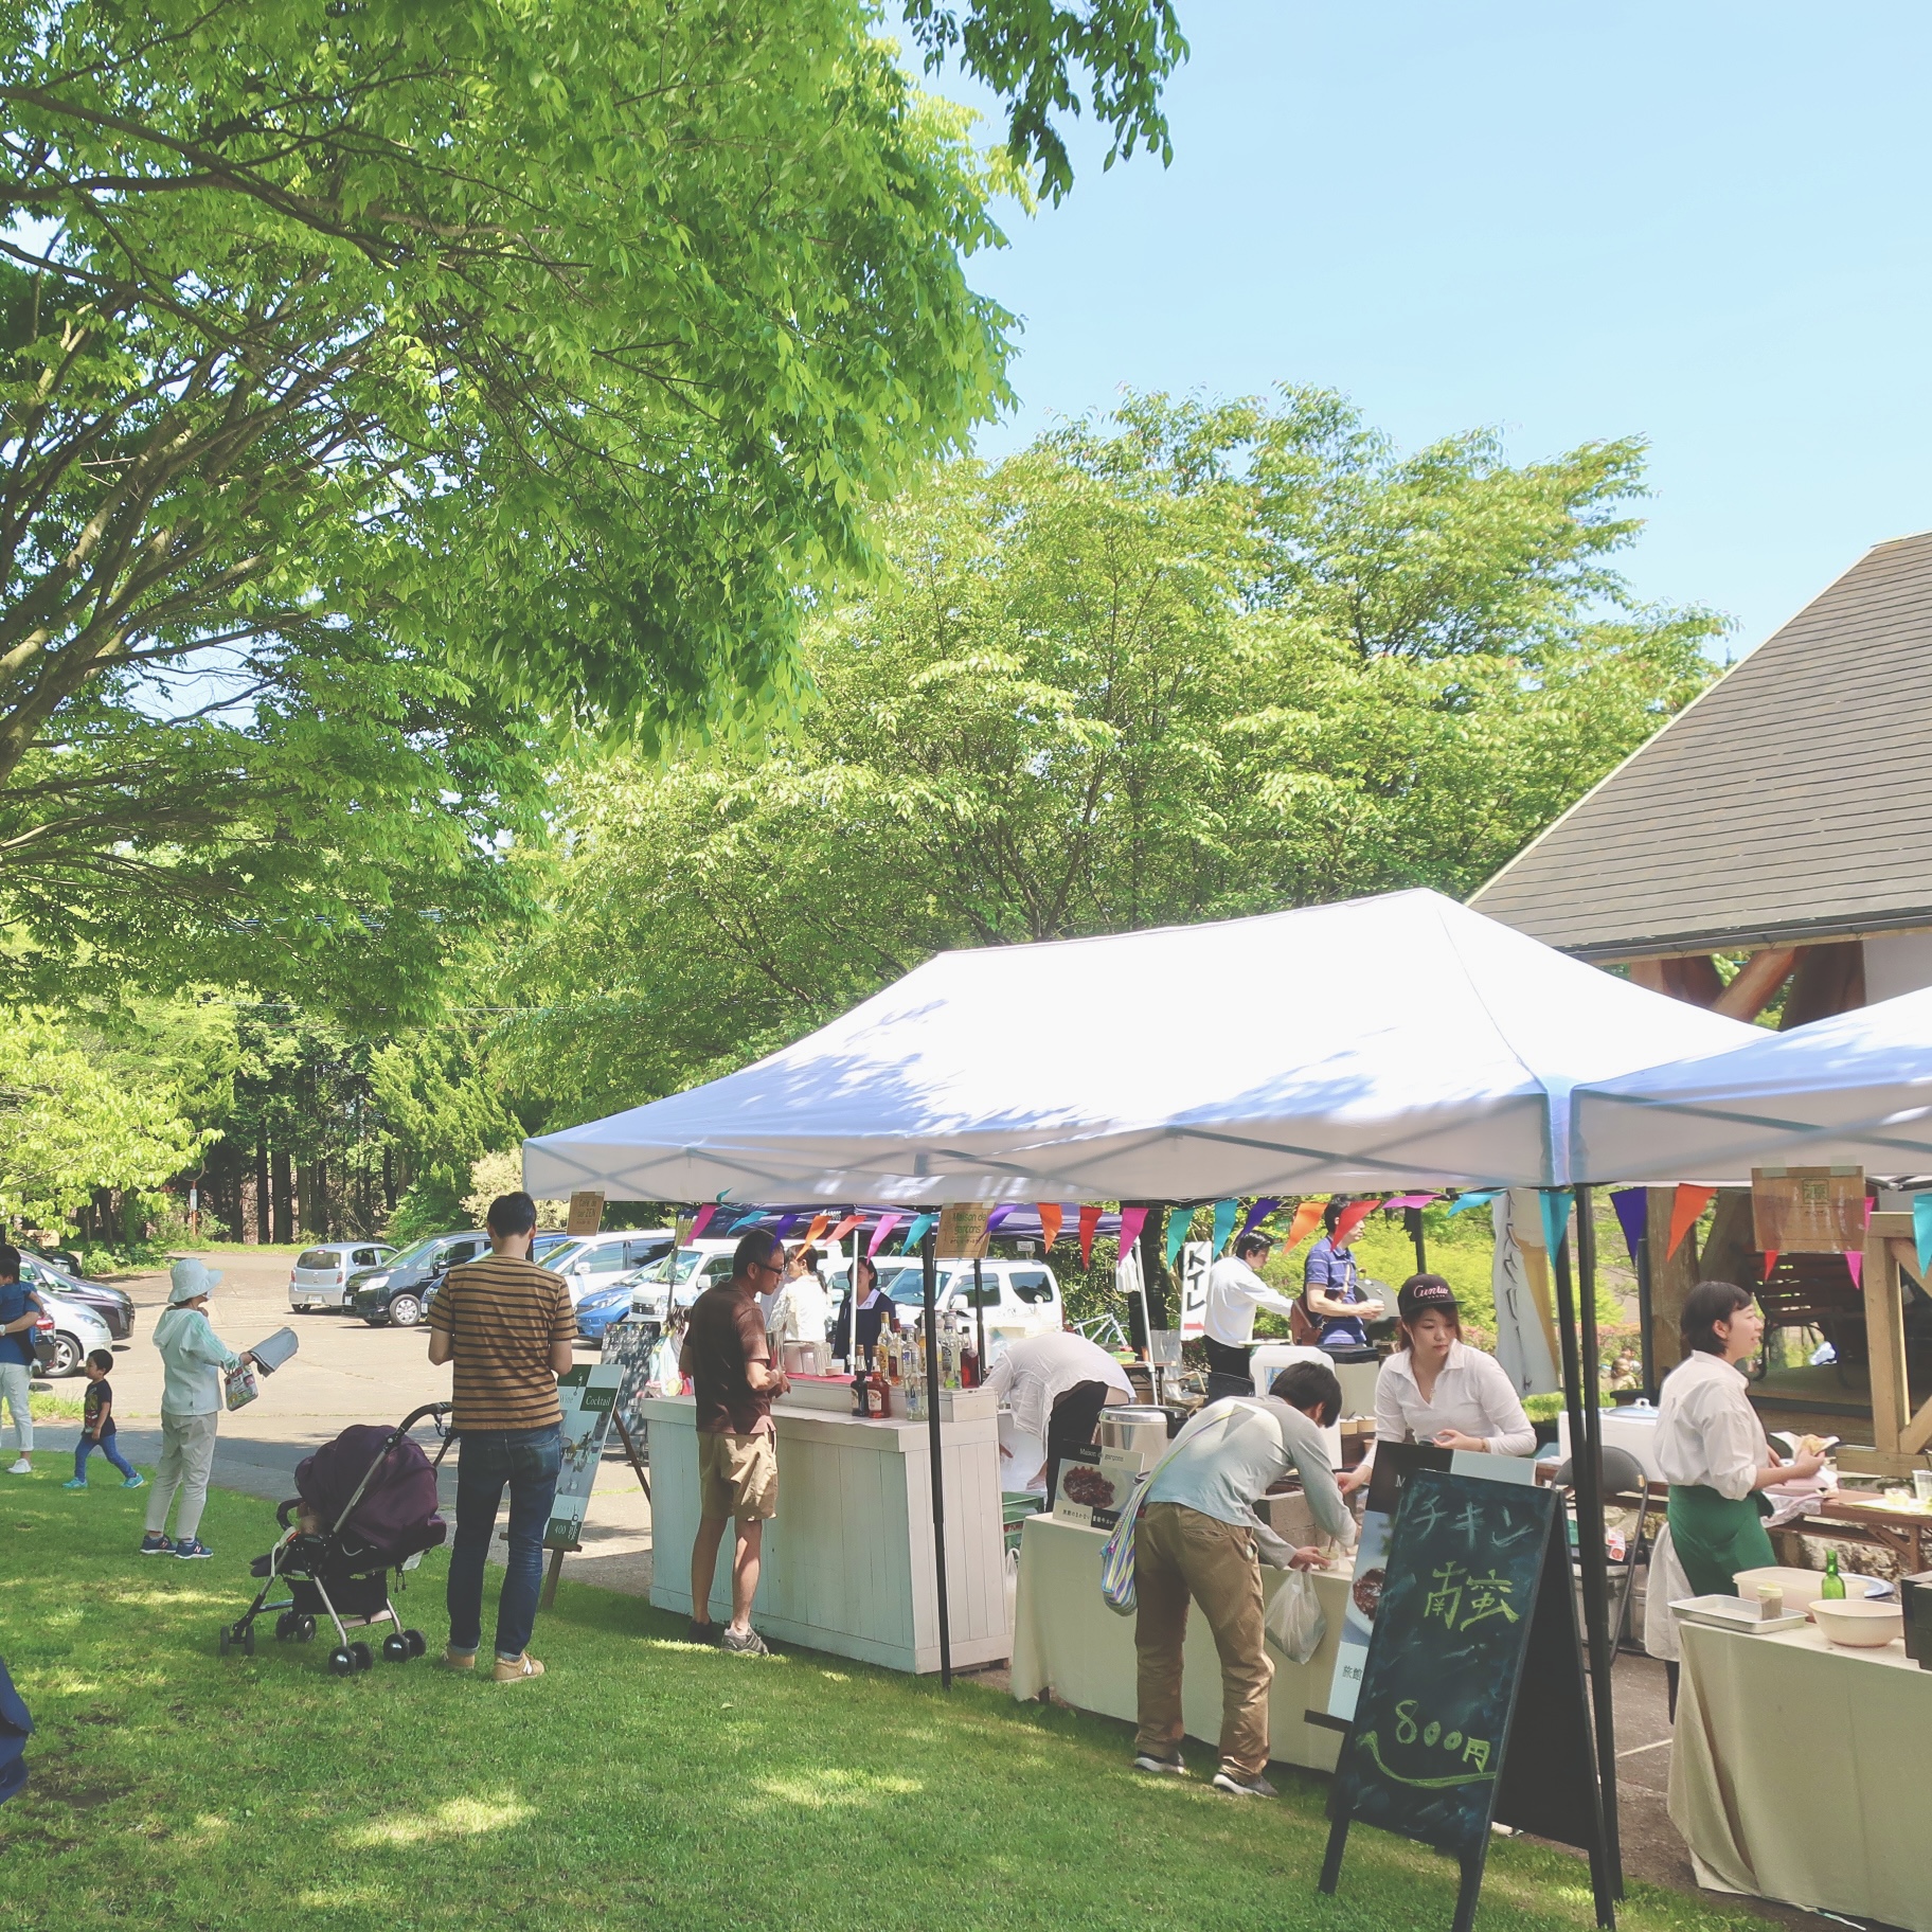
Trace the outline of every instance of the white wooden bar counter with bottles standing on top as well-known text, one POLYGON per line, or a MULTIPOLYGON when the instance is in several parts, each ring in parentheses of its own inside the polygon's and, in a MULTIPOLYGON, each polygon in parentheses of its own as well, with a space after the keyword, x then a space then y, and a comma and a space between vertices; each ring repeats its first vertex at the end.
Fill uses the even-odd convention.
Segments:
MULTIPOLYGON (((643 1403, 651 1426, 651 1602, 692 1613, 697 1430, 688 1395, 643 1403)), ((765 1526, 752 1621, 767 1636, 896 1671, 939 1669, 931 1445, 925 1422, 867 1422, 777 1403, 779 1515, 765 1526)), ((952 1663, 1010 1656, 993 1416, 941 1422, 952 1663)), ((732 1536, 713 1617, 728 1615, 732 1536)))

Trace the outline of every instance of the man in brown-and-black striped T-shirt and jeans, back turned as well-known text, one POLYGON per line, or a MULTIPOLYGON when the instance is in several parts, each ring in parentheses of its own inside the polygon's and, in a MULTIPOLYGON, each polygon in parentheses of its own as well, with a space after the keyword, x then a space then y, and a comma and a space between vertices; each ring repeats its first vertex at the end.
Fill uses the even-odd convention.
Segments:
POLYGON ((564 1412, 556 1378, 578 1323, 562 1275, 529 1260, 537 1204, 500 1194, 489 1209, 487 1260, 452 1267, 429 1304, 429 1360, 454 1362, 456 1542, 450 1546, 452 1669, 475 1667, 483 1642, 483 1565, 502 1492, 510 1492, 510 1565, 497 1602, 500 1685, 541 1677, 529 1654, 543 1580, 543 1532, 556 1501, 564 1412))

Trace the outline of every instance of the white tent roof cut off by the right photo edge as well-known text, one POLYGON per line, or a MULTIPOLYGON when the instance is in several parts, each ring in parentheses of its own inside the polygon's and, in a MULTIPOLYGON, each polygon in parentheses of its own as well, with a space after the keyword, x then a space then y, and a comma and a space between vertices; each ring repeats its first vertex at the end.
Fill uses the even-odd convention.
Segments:
POLYGON ((1932 1173, 1932 989, 1580 1092, 1573 1148, 1582 1180, 1932 1173))

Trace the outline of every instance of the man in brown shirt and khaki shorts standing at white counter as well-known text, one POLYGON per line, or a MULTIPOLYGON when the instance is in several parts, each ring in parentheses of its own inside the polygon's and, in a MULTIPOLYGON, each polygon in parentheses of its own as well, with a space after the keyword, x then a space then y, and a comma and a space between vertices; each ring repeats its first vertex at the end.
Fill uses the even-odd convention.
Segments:
POLYGON ((784 1279, 784 1244, 769 1229, 738 1242, 732 1277, 692 1304, 678 1368, 697 1397, 697 1538, 692 1542, 692 1640, 721 1650, 763 1656, 765 1640, 752 1629, 757 1563, 765 1519, 779 1513, 779 1455, 773 1445, 771 1399, 790 1383, 771 1366, 759 1294, 784 1279), (711 1578, 726 1520, 738 1522, 730 1567, 730 1623, 719 1634, 711 1621, 711 1578))

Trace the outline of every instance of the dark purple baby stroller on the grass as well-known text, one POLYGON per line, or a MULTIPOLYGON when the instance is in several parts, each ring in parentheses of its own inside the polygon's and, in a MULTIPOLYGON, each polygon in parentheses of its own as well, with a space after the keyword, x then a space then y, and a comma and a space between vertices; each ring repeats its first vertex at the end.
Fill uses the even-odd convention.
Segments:
POLYGON ((448 1403, 431 1403, 394 1430, 357 1422, 296 1468, 299 1493, 274 1513, 286 1534, 249 1565, 263 1586, 234 1623, 222 1625, 222 1656, 230 1650, 255 1656, 255 1619, 270 1609, 278 1613, 274 1634, 282 1642, 305 1644, 315 1636, 315 1619, 327 1617, 336 1627, 328 1667, 338 1677, 375 1662, 365 1642, 350 1642, 352 1627, 388 1623, 383 1656, 392 1663, 423 1654, 423 1633, 406 1631, 388 1598, 388 1573, 394 1569, 400 1578, 448 1536, 437 1515, 437 1464, 450 1447, 442 1428, 448 1412, 448 1403), (435 1463, 410 1441, 410 1430, 425 1416, 442 1437, 435 1463), (278 1584, 288 1596, 270 1604, 278 1584))

